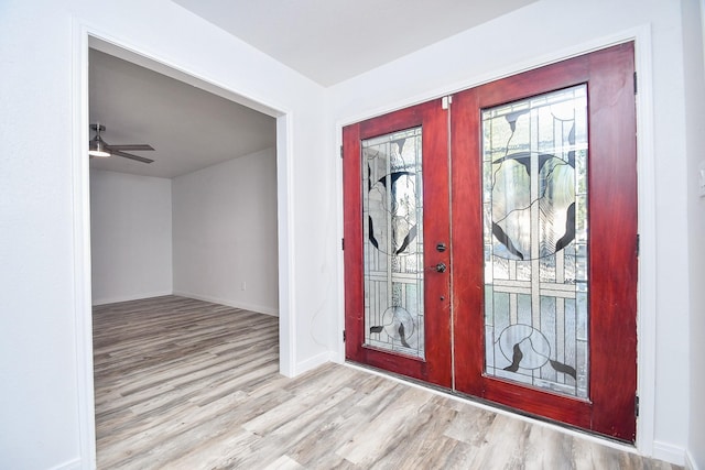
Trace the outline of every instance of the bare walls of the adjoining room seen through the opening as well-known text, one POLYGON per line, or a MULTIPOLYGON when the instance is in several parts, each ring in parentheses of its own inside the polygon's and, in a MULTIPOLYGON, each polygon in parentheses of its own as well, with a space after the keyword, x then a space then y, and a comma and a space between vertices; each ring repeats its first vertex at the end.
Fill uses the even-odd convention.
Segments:
POLYGON ((278 315, 275 149, 173 182, 93 170, 90 205, 94 305, 174 293, 278 315))

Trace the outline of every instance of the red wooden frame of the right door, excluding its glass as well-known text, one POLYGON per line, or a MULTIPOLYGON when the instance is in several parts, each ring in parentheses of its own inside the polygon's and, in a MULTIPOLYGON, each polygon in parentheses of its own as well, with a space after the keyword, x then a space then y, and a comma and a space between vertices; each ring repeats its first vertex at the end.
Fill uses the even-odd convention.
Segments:
POLYGON ((633 72, 633 43, 621 44, 459 92, 451 120, 454 328, 477 338, 456 341, 456 390, 627 441, 636 437, 637 385, 633 72), (484 373, 480 110, 579 84, 587 84, 589 119, 589 400, 484 373))

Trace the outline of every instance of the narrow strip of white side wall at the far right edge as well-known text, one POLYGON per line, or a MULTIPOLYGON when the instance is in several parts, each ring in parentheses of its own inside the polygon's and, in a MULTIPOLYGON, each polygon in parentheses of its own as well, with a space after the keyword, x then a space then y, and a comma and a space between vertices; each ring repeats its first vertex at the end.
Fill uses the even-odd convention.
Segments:
POLYGON ((691 285, 688 463, 693 469, 705 469, 705 197, 698 194, 698 173, 705 170, 705 51, 701 21, 705 18, 705 2, 685 0, 682 6, 691 285))

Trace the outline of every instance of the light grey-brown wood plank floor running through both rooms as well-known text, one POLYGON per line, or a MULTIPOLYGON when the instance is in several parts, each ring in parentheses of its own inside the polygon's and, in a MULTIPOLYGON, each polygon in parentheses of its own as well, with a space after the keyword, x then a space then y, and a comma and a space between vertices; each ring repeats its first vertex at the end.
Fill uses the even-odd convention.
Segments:
POLYGON ((677 469, 357 369, 278 373, 278 319, 94 308, 99 469, 677 469))

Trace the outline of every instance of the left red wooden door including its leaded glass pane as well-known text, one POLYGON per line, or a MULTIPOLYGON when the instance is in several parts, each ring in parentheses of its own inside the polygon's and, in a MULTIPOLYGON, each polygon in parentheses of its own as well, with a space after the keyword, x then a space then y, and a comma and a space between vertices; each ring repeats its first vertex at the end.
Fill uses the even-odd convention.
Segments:
POLYGON ((447 110, 343 130, 346 358, 449 387, 447 110))

